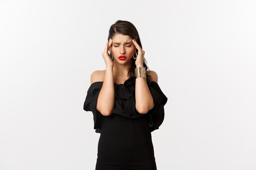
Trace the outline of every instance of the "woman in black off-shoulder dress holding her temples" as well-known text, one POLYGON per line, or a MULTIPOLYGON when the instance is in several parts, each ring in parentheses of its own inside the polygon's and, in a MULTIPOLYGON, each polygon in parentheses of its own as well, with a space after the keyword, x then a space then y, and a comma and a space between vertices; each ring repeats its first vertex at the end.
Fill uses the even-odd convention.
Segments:
POLYGON ((151 132, 164 120, 167 98, 144 54, 132 23, 112 24, 102 53, 106 70, 92 73, 83 106, 101 133, 96 170, 157 169, 151 132))

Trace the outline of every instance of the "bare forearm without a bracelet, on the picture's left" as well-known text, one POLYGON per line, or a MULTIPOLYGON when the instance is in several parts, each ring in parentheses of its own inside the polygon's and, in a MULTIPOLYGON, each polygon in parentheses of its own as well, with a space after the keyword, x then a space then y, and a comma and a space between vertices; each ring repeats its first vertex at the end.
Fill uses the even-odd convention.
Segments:
POLYGON ((105 78, 97 100, 97 110, 104 116, 112 113, 115 103, 113 67, 107 67, 105 78))

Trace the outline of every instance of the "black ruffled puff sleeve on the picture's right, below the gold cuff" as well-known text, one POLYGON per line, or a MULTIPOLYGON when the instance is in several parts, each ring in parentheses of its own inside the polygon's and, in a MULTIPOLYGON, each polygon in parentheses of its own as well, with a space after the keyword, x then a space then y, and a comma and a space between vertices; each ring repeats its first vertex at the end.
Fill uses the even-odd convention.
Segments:
POLYGON ((164 105, 167 102, 167 97, 156 82, 151 82, 148 88, 155 104, 155 106, 149 110, 149 127, 152 132, 159 129, 159 126, 164 121, 164 105))

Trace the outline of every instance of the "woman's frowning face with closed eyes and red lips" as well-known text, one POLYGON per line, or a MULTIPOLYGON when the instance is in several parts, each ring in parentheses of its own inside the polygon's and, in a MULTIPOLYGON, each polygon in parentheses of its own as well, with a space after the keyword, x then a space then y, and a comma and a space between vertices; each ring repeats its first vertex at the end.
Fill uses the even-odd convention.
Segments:
POLYGON ((135 45, 132 43, 132 38, 129 35, 117 34, 112 37, 111 52, 120 64, 125 64, 132 58, 135 45))

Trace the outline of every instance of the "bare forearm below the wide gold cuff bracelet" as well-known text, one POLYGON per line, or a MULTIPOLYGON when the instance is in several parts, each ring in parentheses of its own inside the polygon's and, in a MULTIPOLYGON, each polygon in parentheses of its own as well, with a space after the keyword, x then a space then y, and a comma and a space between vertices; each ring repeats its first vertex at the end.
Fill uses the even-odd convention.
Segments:
POLYGON ((154 100, 144 78, 136 78, 135 83, 135 107, 136 110, 145 114, 154 107, 154 100))

